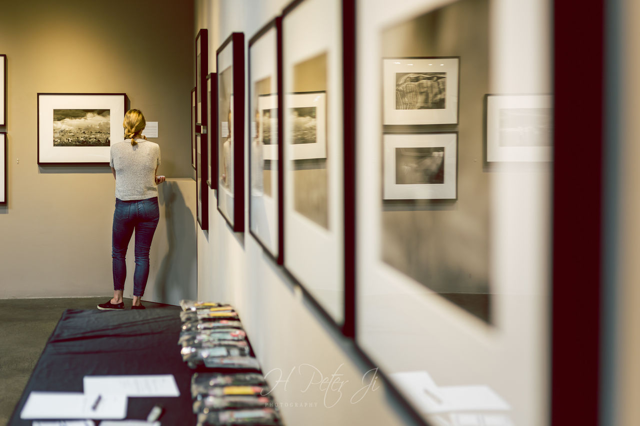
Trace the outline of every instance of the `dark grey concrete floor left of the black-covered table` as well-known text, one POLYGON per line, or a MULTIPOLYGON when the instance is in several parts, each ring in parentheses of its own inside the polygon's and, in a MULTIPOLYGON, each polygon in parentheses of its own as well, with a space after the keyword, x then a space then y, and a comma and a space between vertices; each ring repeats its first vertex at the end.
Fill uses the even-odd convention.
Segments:
MULTIPOLYGON (((6 425, 40 354, 67 309, 97 309, 105 297, 0 299, 0 425, 6 425)), ((170 306, 143 301, 147 308, 170 306)), ((125 309, 131 299, 124 300, 125 309)))

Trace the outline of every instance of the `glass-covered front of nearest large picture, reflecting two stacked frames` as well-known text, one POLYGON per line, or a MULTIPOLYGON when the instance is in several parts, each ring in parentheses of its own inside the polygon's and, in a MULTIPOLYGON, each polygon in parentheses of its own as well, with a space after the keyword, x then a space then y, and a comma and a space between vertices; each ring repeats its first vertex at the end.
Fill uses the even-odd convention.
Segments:
POLYGON ((483 162, 484 95, 550 90, 549 3, 397 0, 358 11, 358 69, 374 72, 357 86, 356 344, 427 424, 549 423, 551 165, 483 162), (382 89, 397 83, 384 58, 412 56, 460 58, 458 118, 403 123, 398 137, 384 121, 382 89), (438 133, 458 134, 456 196, 436 200, 424 187, 418 200, 403 187, 447 186, 446 171, 436 182, 431 170, 446 170, 438 133), (398 172, 386 181, 385 164, 398 172))

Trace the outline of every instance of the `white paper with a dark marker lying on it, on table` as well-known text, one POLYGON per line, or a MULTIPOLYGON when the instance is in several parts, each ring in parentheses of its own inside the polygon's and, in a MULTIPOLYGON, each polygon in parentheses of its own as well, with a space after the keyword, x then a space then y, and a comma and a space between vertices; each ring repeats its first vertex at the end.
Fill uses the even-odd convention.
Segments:
POLYGON ((100 395, 81 392, 31 392, 25 402, 22 419, 122 419, 127 416, 126 395, 100 395), (95 409, 93 409, 95 407, 95 409))

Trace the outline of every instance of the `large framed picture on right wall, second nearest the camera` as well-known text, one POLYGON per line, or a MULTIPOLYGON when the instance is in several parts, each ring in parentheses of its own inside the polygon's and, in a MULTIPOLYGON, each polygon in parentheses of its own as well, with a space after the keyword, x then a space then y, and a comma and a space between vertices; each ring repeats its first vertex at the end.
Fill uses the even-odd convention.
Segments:
POLYGON ((353 59, 343 51, 347 3, 294 1, 282 15, 284 266, 340 329, 348 257, 345 155, 353 143, 345 138, 351 122, 344 120, 351 112, 345 93, 353 89, 345 84, 353 59))

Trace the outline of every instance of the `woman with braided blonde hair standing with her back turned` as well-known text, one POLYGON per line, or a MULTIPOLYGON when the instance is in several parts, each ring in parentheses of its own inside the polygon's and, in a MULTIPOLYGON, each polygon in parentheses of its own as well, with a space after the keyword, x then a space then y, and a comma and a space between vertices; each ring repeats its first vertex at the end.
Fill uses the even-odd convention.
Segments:
POLYGON ((127 278, 125 256, 131 236, 136 233, 136 269, 133 274, 131 309, 144 309, 141 298, 149 276, 149 249, 156 232, 160 212, 157 176, 160 147, 142 136, 145 117, 138 109, 130 109, 122 123, 125 140, 111 146, 111 171, 116 180, 116 207, 113 213, 113 299, 98 305, 101 310, 124 309, 122 292, 127 278))

